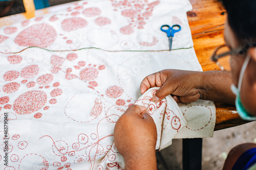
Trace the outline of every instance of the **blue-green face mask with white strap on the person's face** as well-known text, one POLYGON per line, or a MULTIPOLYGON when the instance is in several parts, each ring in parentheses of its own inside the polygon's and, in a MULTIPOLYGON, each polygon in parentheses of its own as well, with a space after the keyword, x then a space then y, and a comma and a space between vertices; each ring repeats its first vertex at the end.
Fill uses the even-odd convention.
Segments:
POLYGON ((241 90, 241 86, 242 86, 244 71, 245 71, 249 61, 250 61, 250 56, 247 56, 245 61, 244 61, 243 66, 241 68, 241 71, 240 71, 239 81, 238 81, 238 88, 235 85, 232 84, 231 85, 231 90, 234 94, 237 95, 237 97, 236 97, 236 108, 237 108, 239 116, 244 120, 256 120, 256 117, 250 115, 250 113, 245 110, 245 108, 244 108, 244 106, 241 102, 241 98, 240 98, 240 90, 241 90))

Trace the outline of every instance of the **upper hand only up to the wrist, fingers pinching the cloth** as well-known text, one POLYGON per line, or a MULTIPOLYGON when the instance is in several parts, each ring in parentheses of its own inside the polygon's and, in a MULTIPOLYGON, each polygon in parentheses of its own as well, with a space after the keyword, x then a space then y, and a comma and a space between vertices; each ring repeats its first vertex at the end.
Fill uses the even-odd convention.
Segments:
POLYGON ((161 87, 153 96, 153 102, 159 102, 172 94, 177 103, 191 103, 200 99, 200 72, 165 69, 147 76, 140 85, 143 94, 151 87, 161 87))

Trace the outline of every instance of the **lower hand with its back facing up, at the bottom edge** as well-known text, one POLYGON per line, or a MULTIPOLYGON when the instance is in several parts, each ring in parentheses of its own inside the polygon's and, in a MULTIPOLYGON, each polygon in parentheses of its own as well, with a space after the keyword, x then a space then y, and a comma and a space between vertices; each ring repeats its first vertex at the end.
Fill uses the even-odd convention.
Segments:
POLYGON ((157 130, 146 108, 130 106, 118 119, 114 129, 116 148, 124 158, 127 169, 157 169, 157 130))

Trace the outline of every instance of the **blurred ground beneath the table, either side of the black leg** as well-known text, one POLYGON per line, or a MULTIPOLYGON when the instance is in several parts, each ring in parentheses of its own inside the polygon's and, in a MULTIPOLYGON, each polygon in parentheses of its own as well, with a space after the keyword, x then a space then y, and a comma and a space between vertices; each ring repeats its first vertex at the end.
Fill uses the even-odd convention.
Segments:
MULTIPOLYGON (((238 144, 256 143, 256 122, 214 132, 214 137, 203 139, 202 170, 222 169, 228 152, 238 144)), ((157 155, 158 169, 182 169, 182 139, 174 139, 170 147, 160 151, 168 168, 157 155)))

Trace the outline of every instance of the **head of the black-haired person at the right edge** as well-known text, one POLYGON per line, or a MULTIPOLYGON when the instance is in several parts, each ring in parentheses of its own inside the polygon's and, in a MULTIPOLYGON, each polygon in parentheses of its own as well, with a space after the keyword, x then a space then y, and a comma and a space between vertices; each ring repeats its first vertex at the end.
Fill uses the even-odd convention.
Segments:
POLYGON ((227 10, 225 42, 231 49, 243 47, 244 55, 230 59, 231 77, 238 87, 241 67, 247 55, 250 61, 244 72, 241 86, 241 101, 245 109, 256 116, 256 1, 222 0, 227 10))

